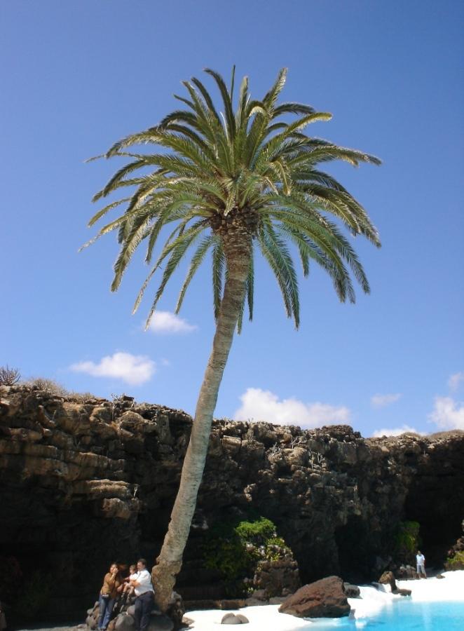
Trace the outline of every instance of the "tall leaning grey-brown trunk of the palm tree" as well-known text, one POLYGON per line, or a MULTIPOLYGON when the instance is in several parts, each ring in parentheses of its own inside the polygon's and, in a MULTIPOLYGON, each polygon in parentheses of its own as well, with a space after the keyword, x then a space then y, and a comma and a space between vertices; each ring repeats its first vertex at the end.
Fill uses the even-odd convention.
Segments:
POLYGON ((203 384, 198 395, 195 417, 187 448, 179 491, 172 508, 168 532, 151 571, 156 591, 156 602, 166 611, 176 576, 182 567, 182 555, 189 538, 191 521, 196 508, 198 488, 210 441, 212 415, 216 407, 219 386, 232 346, 238 315, 245 296, 245 283, 250 269, 252 239, 245 229, 235 229, 223 236, 226 257, 226 284, 217 318, 212 352, 208 360, 203 384))

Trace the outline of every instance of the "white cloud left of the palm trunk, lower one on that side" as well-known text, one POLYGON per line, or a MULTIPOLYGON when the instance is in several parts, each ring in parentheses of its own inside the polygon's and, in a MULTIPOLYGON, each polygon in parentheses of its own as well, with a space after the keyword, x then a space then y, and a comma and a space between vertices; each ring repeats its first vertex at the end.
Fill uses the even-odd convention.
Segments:
POLYGON ((156 364, 146 355, 114 353, 106 355, 100 362, 78 362, 70 366, 75 372, 86 372, 96 377, 122 379, 131 386, 145 384, 156 371, 156 364))

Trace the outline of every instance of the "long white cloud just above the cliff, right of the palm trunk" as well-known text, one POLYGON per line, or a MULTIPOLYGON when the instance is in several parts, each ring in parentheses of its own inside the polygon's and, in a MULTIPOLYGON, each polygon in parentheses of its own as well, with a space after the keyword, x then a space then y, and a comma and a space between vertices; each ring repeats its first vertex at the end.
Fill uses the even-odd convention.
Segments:
POLYGON ((294 398, 280 401, 278 395, 261 388, 247 388, 240 396, 240 401, 241 407, 233 414, 233 418, 237 420, 253 419, 276 425, 299 425, 306 429, 347 423, 350 420, 348 407, 304 403, 294 398))

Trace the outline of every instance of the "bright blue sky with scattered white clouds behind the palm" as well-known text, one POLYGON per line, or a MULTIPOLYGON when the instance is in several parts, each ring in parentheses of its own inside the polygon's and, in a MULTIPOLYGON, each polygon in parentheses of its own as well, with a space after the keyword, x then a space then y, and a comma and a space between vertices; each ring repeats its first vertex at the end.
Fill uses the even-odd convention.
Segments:
POLYGON ((228 77, 236 64, 257 97, 288 67, 285 100, 334 115, 311 133, 382 158, 332 172, 383 247, 355 242, 372 292, 354 306, 321 271, 301 278, 298 332, 259 264, 216 415, 363 435, 464 429, 463 17, 456 1, 1 3, 0 365, 193 412, 214 332, 210 270, 179 322, 181 271, 144 332, 149 301, 130 315, 142 259, 111 294, 114 236, 77 252, 94 233, 90 198, 117 168, 84 161, 175 109, 180 81, 203 67, 228 77))

